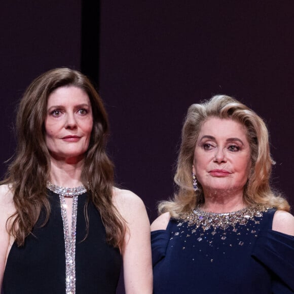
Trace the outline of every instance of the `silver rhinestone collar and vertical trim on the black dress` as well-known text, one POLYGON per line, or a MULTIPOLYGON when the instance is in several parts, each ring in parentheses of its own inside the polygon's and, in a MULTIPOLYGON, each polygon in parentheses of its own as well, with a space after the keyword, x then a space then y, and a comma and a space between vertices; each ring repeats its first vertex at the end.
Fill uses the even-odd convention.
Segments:
POLYGON ((59 194, 65 245, 65 293, 75 294, 78 195, 84 194, 87 192, 87 189, 84 186, 77 188, 64 188, 56 186, 50 182, 47 182, 47 188, 52 192, 59 194), (72 197, 71 232, 68 228, 65 197, 72 197))

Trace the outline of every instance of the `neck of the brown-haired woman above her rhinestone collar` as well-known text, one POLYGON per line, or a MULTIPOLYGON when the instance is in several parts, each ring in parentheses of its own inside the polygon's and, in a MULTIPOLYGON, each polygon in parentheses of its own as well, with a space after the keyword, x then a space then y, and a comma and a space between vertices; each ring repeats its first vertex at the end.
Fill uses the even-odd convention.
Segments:
POLYGON ((84 161, 67 163, 64 161, 51 160, 50 181, 61 187, 79 187, 82 185, 81 174, 84 161))

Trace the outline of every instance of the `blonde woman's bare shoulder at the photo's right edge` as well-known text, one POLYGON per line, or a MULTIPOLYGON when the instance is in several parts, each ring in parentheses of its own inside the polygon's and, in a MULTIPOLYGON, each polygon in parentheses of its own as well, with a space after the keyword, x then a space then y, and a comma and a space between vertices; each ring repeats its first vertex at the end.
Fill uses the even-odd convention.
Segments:
POLYGON ((294 216, 289 212, 277 210, 273 219, 273 230, 294 236, 294 216))

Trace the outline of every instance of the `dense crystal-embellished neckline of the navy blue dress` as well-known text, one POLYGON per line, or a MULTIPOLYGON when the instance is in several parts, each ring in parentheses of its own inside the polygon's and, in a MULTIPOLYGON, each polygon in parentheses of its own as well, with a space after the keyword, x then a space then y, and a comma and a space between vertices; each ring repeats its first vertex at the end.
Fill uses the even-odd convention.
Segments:
POLYGON ((262 217, 263 212, 267 212, 270 208, 256 204, 237 211, 218 213, 203 211, 197 206, 191 213, 184 216, 183 222, 188 222, 188 226, 195 226, 195 229, 201 227, 203 231, 210 228, 214 231, 218 228, 226 230, 230 226, 235 228, 237 224, 246 225, 248 220, 262 217))

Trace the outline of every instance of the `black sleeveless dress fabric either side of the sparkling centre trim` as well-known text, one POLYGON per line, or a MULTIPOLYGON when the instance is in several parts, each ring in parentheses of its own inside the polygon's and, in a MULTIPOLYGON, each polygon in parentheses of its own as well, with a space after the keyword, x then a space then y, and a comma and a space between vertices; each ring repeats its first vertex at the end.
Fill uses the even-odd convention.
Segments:
MULTIPOLYGON (((6 264, 4 294, 61 294, 66 288, 65 241, 59 195, 48 190, 51 203, 49 221, 38 223, 22 247, 14 243, 6 264)), ((118 248, 105 241, 105 228, 99 212, 88 205, 89 233, 86 236, 84 206, 87 193, 78 196, 76 225, 76 294, 114 294, 122 264, 118 248)))

